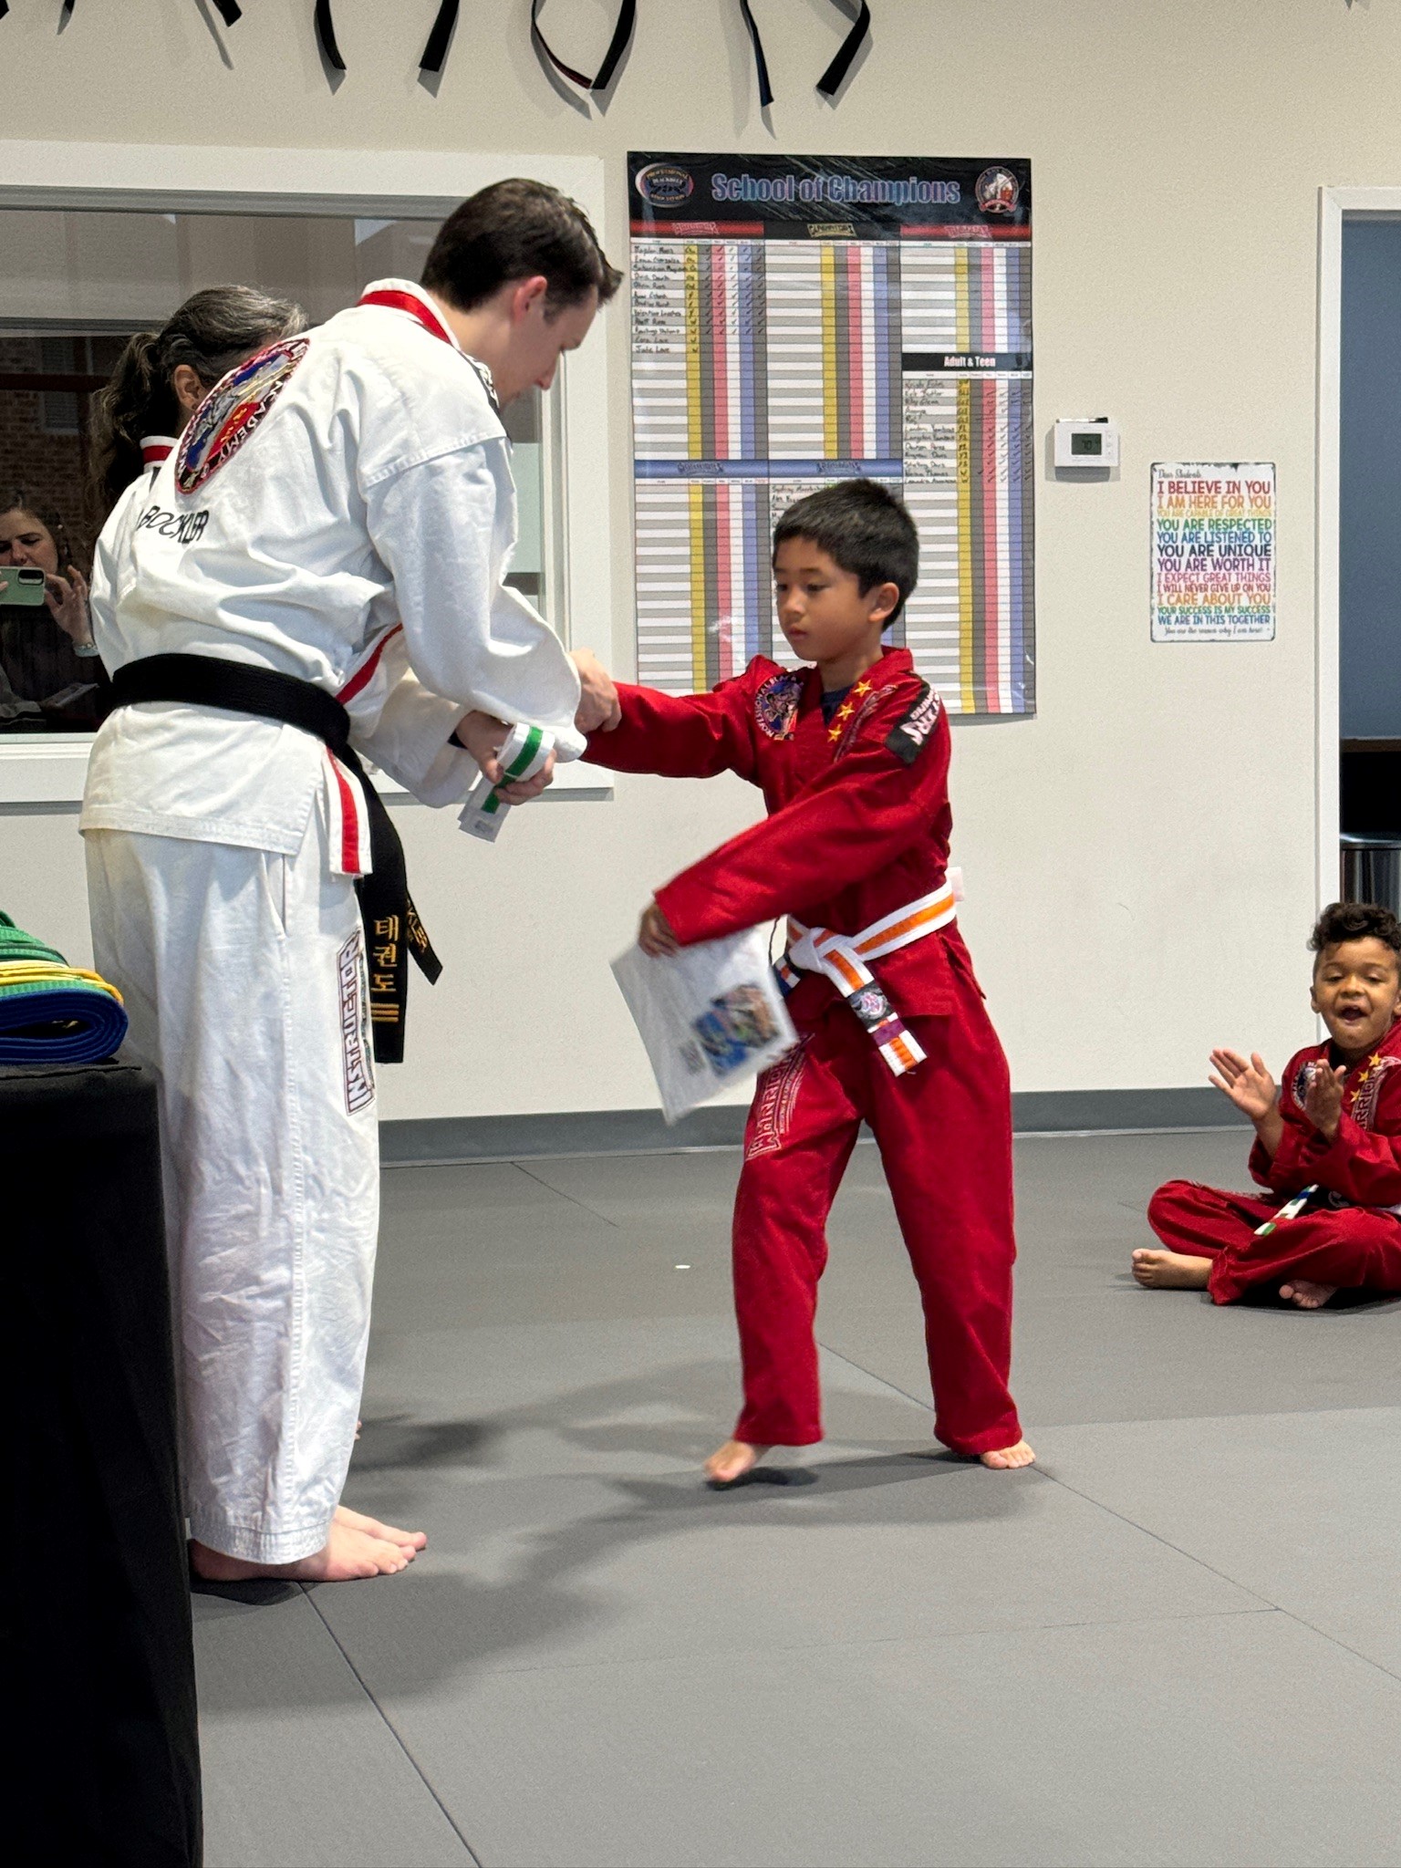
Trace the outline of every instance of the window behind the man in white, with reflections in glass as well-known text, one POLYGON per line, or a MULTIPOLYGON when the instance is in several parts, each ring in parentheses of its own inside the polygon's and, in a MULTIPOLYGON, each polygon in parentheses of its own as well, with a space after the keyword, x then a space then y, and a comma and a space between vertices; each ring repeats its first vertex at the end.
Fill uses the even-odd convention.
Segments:
MULTIPOLYGON (((374 278, 418 278, 437 226, 353 213, 0 211, 0 557, 22 523, 30 540, 43 532, 45 568, 90 575, 106 517, 90 486, 92 398, 133 333, 224 280, 295 299, 321 323, 374 278)), ((564 630, 559 400, 559 385, 532 390, 504 413, 519 491, 508 581, 564 630)), ((90 734, 105 710, 99 663, 73 652, 47 605, 0 607, 0 736, 90 734)))

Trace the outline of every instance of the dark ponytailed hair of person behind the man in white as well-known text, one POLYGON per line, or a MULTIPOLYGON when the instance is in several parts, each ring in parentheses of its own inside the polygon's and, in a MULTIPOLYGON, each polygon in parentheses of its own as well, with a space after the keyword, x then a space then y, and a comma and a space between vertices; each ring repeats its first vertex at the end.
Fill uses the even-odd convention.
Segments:
POLYGON ((161 331, 138 331, 106 389, 93 396, 92 493, 103 512, 142 471, 144 435, 176 435, 181 409, 172 372, 189 364, 205 390, 263 344, 306 329, 306 312, 254 286, 207 286, 161 331))

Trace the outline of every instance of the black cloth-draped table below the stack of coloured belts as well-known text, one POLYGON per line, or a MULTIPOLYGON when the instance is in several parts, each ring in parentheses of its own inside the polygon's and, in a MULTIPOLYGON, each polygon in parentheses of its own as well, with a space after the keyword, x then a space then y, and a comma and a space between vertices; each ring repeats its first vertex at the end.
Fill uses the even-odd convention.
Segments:
POLYGON ((0 1068, 0 1240, 11 1859, 192 1868, 200 1747, 148 1072, 0 1068))

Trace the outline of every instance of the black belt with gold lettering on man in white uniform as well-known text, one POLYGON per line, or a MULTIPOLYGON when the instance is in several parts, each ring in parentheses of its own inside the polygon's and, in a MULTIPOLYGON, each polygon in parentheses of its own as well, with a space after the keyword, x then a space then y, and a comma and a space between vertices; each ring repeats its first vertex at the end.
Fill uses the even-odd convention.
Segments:
POLYGON ((372 872, 357 878, 355 893, 361 897, 368 949, 375 1063, 403 1063, 409 955, 430 984, 443 971, 443 962, 433 953, 433 943, 413 906, 400 833, 349 743, 349 714, 340 700, 323 687, 297 680, 295 674, 254 669, 247 661, 219 661, 213 656, 144 656, 140 661, 129 661, 112 676, 112 700, 116 706, 134 706, 138 700, 185 700, 191 706, 280 719, 288 727, 314 734, 355 773, 370 813, 374 861, 372 872))

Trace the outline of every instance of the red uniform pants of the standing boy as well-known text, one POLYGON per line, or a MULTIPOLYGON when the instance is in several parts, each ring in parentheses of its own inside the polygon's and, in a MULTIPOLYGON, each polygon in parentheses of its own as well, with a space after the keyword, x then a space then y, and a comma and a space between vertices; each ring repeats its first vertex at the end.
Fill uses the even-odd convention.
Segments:
POLYGON ((822 1438, 813 1323, 828 1212, 863 1119, 925 1306, 934 1433, 958 1453, 1022 1436, 1007 1392, 1016 1257, 1007 1059, 977 986, 962 971, 955 981, 953 1016, 908 1020, 927 1057, 904 1076, 837 1001, 758 1080, 734 1203, 738 1440, 822 1438))

